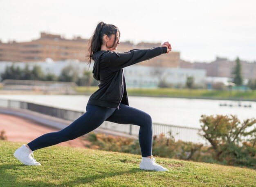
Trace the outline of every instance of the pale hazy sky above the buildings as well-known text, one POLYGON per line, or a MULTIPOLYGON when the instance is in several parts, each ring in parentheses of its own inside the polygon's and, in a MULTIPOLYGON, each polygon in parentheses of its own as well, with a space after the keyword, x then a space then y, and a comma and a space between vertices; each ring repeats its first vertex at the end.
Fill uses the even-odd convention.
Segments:
POLYGON ((254 62, 255 9, 255 0, 2 0, 0 40, 28 42, 40 32, 90 38, 103 21, 119 28, 120 42, 168 41, 182 60, 254 62))

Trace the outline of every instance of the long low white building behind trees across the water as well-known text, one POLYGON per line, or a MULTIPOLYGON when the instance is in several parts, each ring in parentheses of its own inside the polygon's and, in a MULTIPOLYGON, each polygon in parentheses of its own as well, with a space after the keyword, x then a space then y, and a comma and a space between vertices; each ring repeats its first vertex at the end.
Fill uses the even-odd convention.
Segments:
MULTIPOLYGON (((1 62, 0 73, 4 72, 6 66, 10 66, 11 64, 12 62, 1 62)), ((14 65, 24 69, 26 62, 15 62, 14 65)), ((45 74, 54 73, 57 76, 61 74, 61 70, 67 65, 75 67, 79 72, 79 76, 89 68, 87 63, 79 62, 78 60, 52 62, 47 59, 46 62, 29 62, 28 65, 29 69, 32 69, 34 65, 40 65, 45 74)), ((93 65, 94 62, 90 65, 89 71, 92 71, 93 65)), ((160 80, 164 80, 168 84, 184 86, 187 76, 193 76, 196 84, 204 85, 206 78, 206 71, 203 69, 153 67, 139 64, 125 67, 124 74, 127 87, 135 88, 157 88, 160 80)), ((2 81, 1 78, 0 81, 2 81)))

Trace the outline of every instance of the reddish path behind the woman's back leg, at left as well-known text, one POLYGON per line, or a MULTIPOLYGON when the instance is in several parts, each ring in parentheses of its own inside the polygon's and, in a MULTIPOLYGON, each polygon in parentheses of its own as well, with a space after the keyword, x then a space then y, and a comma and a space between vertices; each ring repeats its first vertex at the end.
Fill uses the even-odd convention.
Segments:
MULTIPOLYGON (((52 127, 47 127, 33 120, 11 116, 7 114, 0 114, 0 131, 5 131, 7 140, 13 142, 30 142, 45 133, 59 131, 52 127)), ((84 147, 90 142, 82 140, 81 137, 67 142, 61 142, 57 145, 71 146, 71 147, 84 147)))

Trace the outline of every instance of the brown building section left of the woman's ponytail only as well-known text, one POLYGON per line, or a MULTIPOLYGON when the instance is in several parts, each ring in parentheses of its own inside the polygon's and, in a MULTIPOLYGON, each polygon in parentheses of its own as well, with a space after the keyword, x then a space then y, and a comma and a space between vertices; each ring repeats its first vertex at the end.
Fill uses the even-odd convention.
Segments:
POLYGON ((85 44, 81 37, 67 40, 60 35, 41 32, 39 39, 30 42, 0 42, 0 61, 35 62, 52 58, 54 61, 78 59, 85 61, 85 44))

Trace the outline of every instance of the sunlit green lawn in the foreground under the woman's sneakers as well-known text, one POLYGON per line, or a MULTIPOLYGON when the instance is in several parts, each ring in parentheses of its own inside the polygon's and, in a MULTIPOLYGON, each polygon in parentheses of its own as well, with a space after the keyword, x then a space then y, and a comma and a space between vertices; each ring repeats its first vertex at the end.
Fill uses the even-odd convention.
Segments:
POLYGON ((146 171, 140 155, 58 145, 34 152, 41 166, 25 166, 13 156, 22 143, 0 140, 0 186, 256 185, 253 169, 156 157, 169 171, 146 171))

